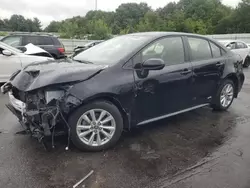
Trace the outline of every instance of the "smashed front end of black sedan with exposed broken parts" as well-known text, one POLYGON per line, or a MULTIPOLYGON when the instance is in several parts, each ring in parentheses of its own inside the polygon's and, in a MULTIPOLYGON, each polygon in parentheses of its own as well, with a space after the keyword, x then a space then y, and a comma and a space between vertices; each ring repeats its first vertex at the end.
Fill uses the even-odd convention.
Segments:
POLYGON ((51 137, 54 148, 56 135, 68 133, 69 144, 67 114, 81 104, 81 100, 69 93, 71 87, 70 84, 60 84, 25 92, 6 83, 1 90, 8 92, 9 104, 6 106, 18 117, 25 130, 42 143, 45 138, 51 137))

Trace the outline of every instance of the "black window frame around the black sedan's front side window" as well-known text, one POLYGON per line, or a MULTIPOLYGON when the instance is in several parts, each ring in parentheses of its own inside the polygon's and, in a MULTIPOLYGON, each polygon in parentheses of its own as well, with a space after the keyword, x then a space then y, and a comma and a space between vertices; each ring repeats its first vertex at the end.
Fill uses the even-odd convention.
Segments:
MULTIPOLYGON (((133 62, 133 67, 136 65, 136 64, 139 64, 139 63, 144 63, 144 62, 135 62, 135 59, 136 57, 142 52, 143 50, 147 49, 150 45, 156 43, 157 41, 160 41, 160 40, 164 40, 164 39, 167 39, 167 38, 177 38, 179 37, 182 41, 182 45, 183 45, 183 53, 184 53, 184 62, 182 63, 178 63, 178 64, 165 64, 165 67, 168 67, 168 66, 175 66, 175 65, 181 65, 181 64, 185 64, 187 62, 189 62, 189 54, 188 54, 188 49, 187 49, 187 46, 186 46, 186 43, 185 43, 185 36, 184 35, 167 35, 167 36, 162 36, 162 37, 159 37, 153 41, 151 41, 150 43, 146 44, 145 46, 143 46, 137 53, 135 53, 131 59, 132 59, 132 62, 133 62)), ((130 62, 130 60, 127 61, 127 63, 130 62)), ((125 63, 125 65, 127 64, 125 63)), ((137 68, 133 68, 133 69, 137 69, 137 68)))

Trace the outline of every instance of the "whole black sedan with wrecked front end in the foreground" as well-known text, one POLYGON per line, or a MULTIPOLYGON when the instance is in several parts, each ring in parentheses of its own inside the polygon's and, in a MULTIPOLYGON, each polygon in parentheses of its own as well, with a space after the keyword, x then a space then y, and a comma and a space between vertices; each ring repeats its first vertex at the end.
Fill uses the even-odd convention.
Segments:
POLYGON ((244 79, 242 58, 212 39, 148 32, 31 64, 1 90, 33 136, 64 130, 79 149, 101 151, 125 128, 209 105, 228 109, 244 79))

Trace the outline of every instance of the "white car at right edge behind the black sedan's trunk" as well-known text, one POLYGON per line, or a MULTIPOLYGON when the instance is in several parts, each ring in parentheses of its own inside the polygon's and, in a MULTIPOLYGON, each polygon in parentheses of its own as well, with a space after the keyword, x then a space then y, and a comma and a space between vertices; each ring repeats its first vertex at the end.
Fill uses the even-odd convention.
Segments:
POLYGON ((242 57, 243 67, 249 67, 250 47, 245 42, 239 40, 221 40, 219 42, 242 57))

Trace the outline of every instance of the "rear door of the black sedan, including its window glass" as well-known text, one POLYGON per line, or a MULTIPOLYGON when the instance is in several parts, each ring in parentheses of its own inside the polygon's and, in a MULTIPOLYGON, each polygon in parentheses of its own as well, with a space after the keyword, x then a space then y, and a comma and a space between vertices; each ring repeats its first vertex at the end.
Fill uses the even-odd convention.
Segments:
POLYGON ((223 49, 210 40, 187 37, 193 66, 193 92, 196 105, 209 103, 225 66, 223 49))

